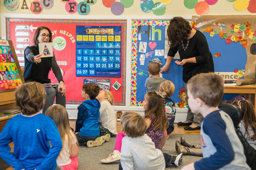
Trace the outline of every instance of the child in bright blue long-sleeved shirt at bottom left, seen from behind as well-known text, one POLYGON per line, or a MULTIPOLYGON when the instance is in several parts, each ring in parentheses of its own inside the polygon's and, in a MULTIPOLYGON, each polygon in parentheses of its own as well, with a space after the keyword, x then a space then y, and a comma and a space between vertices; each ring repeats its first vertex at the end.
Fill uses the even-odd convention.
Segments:
POLYGON ((11 118, 0 133, 0 157, 14 169, 57 166, 62 142, 53 120, 40 113, 45 99, 46 90, 40 83, 30 82, 16 89, 15 101, 21 113, 11 118), (14 142, 13 153, 11 142, 14 142))

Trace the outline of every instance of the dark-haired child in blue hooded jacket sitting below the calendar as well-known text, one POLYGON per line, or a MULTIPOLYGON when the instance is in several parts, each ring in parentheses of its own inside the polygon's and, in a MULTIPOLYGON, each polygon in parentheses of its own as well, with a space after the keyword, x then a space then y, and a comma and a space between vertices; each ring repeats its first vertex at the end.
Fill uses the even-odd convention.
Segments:
POLYGON ((96 83, 85 83, 82 86, 82 98, 85 99, 77 108, 76 137, 81 146, 100 146, 105 141, 110 140, 110 134, 99 137, 100 126, 100 102, 96 96, 100 92, 100 87, 96 83))

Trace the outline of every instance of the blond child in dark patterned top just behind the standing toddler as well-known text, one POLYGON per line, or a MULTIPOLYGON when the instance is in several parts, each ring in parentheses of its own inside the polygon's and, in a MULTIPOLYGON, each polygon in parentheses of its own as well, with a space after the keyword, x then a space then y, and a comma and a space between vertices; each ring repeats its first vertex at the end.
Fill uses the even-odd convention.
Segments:
POLYGON ((166 114, 169 122, 169 127, 167 128, 167 135, 170 135, 172 131, 174 131, 174 120, 176 114, 175 102, 170 98, 175 91, 174 83, 172 83, 170 80, 164 80, 164 82, 160 84, 159 91, 166 93, 164 94, 164 101, 166 103, 166 114))

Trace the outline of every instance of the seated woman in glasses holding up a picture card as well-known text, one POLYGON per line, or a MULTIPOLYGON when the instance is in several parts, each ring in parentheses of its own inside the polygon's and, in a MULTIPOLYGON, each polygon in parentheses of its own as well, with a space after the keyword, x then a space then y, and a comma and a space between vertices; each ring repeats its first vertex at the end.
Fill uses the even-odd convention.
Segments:
POLYGON ((46 101, 43 107, 43 113, 46 113, 48 107, 53 104, 56 96, 56 104, 63 105, 66 104, 66 88, 64 86, 63 76, 59 66, 57 65, 55 56, 44 57, 39 54, 39 43, 52 42, 52 32, 47 27, 38 27, 34 35, 34 45, 27 46, 24 50, 24 79, 25 82, 39 82, 39 83, 51 83, 48 78, 49 71, 52 69, 57 80, 59 81, 59 86, 57 87, 45 87, 46 88, 46 101))

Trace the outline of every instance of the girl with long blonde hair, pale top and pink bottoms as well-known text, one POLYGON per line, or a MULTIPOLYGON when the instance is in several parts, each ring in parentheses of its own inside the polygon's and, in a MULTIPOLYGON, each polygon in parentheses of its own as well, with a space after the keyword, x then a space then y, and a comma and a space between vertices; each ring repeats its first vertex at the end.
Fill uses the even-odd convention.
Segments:
POLYGON ((63 143, 62 150, 57 158, 57 164, 64 170, 77 169, 79 165, 78 141, 69 126, 68 112, 62 105, 56 104, 48 108, 46 115, 55 122, 63 143))

